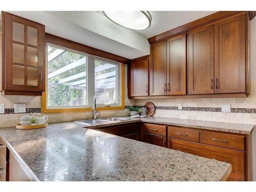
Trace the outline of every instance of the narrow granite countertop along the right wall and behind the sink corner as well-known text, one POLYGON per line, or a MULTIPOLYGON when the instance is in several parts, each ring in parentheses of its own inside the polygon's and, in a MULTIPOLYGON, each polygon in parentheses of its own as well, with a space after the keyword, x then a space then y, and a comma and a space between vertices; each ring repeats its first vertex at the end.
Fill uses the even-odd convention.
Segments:
MULTIPOLYGON (((131 118, 131 117, 126 116, 124 118, 131 118)), ((128 121, 111 122, 111 123, 103 123, 103 124, 95 124, 95 125, 84 125, 83 124, 83 126, 90 127, 90 129, 93 129, 93 128, 98 128, 98 127, 132 123, 132 122, 140 122, 140 121, 147 122, 147 123, 185 126, 185 127, 196 128, 196 129, 214 130, 214 131, 239 133, 239 134, 251 134, 251 132, 255 126, 252 124, 199 121, 199 120, 176 119, 176 118, 168 118, 168 117, 132 118, 131 120, 128 120, 128 121)))

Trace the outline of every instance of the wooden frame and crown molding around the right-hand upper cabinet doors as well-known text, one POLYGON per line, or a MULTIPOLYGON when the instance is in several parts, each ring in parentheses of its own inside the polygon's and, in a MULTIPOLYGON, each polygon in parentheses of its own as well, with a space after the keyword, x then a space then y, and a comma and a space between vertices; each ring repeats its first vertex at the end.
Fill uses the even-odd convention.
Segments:
MULTIPOLYGON (((164 99, 164 98, 215 98, 215 97, 247 97, 248 94, 250 94, 250 62, 249 62, 249 51, 250 51, 250 22, 249 22, 249 12, 248 11, 220 11, 220 12, 216 12, 214 14, 208 15, 206 17, 200 18, 198 20, 195 20, 194 22, 185 24, 183 26, 180 26, 178 28, 175 28, 173 30, 164 32, 162 34, 156 35, 154 37, 148 38, 148 42, 150 42, 151 44, 151 53, 152 53, 152 49, 154 48, 154 46, 156 45, 161 45, 161 44, 166 44, 167 39, 169 38, 174 38, 177 35, 180 35, 182 33, 188 33, 189 36, 189 31, 191 30, 198 30, 200 28, 204 28, 207 26, 211 26, 211 32, 212 35, 214 35, 214 37, 212 37, 212 46, 213 47, 213 56, 211 58, 211 62, 212 62, 212 80, 208 80, 209 82, 209 87, 212 89, 206 90, 206 91, 193 91, 193 89, 191 89, 191 87, 193 86, 193 84, 191 84, 191 72, 189 72, 189 66, 191 67, 191 63, 189 61, 189 46, 191 45, 191 42, 189 42, 189 38, 187 40, 187 72, 186 72, 186 86, 187 86, 187 94, 186 95, 172 95, 169 94, 167 91, 159 91, 158 93, 154 92, 154 87, 153 86, 153 82, 155 81, 153 76, 152 76, 152 58, 154 57, 154 55, 150 55, 150 96, 130 96, 130 99, 148 99, 148 98, 154 98, 154 99, 164 99), (217 39, 215 38, 215 34, 216 32, 214 31, 215 25, 218 25, 218 23, 223 22, 223 20, 225 19, 229 19, 229 18, 234 18, 237 16, 245 16, 245 89, 240 89, 239 90, 224 90, 224 91, 219 91, 216 88, 216 85, 218 84, 218 80, 216 83, 216 78, 215 76, 218 76, 218 70, 215 68, 216 63, 215 60, 218 59, 216 54, 214 54, 214 50, 215 53, 217 51, 216 46, 214 45, 214 42, 216 44, 217 39), (190 63, 190 64, 189 64, 190 63), (217 75, 216 75, 217 74, 217 75), (212 82, 211 82, 212 81, 212 82), (191 91, 192 90, 192 91, 191 91), (242 91, 241 91, 242 90, 242 91)), ((167 49, 167 48, 166 48, 167 49)), ((167 56, 166 56, 166 71, 167 69, 167 56)), ((159 83, 159 86, 161 86, 162 88, 162 81, 164 80, 164 78, 168 78, 167 76, 163 77, 163 79, 161 80, 161 82, 159 83)), ((218 78, 218 77, 217 77, 218 78)), ((160 80, 159 80, 160 81, 160 80)), ((166 81, 166 80, 165 80, 166 81)), ((166 81, 167 82, 167 81, 166 81)), ((167 82, 168 83, 168 82, 167 82)))

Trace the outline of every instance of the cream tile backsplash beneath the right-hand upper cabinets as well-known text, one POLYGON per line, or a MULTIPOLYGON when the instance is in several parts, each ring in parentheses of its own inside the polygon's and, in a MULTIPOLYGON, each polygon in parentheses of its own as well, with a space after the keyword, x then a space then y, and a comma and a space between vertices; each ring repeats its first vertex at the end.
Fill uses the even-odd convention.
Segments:
POLYGON ((256 80, 251 81, 251 94, 246 98, 136 99, 133 104, 148 101, 156 105, 154 116, 256 124, 256 80), (182 103, 182 110, 178 110, 178 103, 182 103), (221 112, 222 104, 230 104, 231 112, 221 112))

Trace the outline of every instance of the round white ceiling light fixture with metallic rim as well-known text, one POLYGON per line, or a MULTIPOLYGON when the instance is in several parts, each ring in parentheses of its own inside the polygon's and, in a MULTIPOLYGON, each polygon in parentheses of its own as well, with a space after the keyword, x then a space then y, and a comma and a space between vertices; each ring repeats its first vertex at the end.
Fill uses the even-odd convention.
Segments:
POLYGON ((144 30, 151 26, 147 11, 102 11, 115 24, 132 30, 144 30))

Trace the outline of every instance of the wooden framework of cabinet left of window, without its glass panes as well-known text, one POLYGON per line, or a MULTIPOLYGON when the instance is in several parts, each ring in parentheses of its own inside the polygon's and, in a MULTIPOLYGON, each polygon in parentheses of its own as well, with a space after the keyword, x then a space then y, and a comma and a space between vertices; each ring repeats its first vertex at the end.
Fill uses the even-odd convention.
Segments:
MULTIPOLYGON (((1 90, 4 91, 5 95, 41 95, 44 91, 44 62, 45 62, 45 26, 31 22, 30 20, 2 12, 2 84, 1 90), (25 42, 20 43, 14 41, 12 38, 12 22, 20 23, 25 26, 24 35, 25 42), (29 45, 29 47, 36 47, 37 49, 37 86, 28 86, 27 84, 27 67, 35 68, 34 66, 29 66, 26 63, 27 60, 27 26, 37 29, 37 46, 29 45), (13 61, 12 61, 12 44, 20 44, 24 46, 24 85, 13 84, 13 61), (6 54, 8 53, 8 54, 6 54)), ((19 63, 15 65, 19 66, 19 63)))

